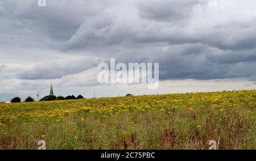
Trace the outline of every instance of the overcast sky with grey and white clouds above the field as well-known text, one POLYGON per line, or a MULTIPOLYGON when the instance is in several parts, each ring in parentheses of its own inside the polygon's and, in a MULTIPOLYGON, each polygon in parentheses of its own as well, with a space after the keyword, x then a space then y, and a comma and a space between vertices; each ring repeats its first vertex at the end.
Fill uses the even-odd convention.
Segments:
POLYGON ((0 101, 256 88, 254 0, 0 0, 0 101), (159 63, 159 88, 100 84, 98 63, 159 63))

